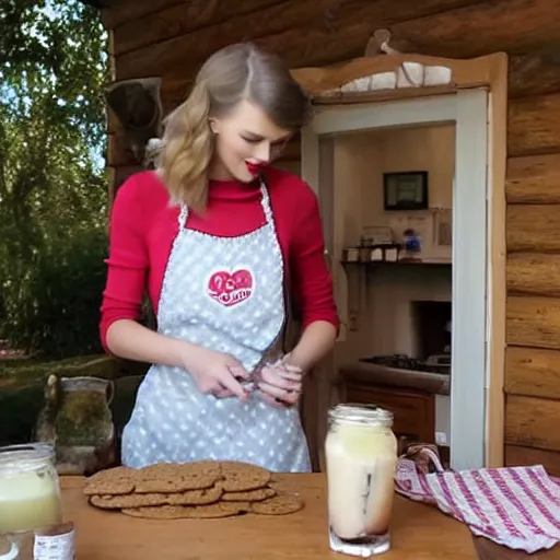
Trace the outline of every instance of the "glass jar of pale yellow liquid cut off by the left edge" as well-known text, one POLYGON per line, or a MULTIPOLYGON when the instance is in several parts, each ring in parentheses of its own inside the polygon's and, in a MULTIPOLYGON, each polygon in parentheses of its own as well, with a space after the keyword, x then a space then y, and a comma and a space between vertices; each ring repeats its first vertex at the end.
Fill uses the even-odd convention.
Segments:
POLYGON ((54 448, 44 443, 0 447, 0 535, 61 522, 54 448))

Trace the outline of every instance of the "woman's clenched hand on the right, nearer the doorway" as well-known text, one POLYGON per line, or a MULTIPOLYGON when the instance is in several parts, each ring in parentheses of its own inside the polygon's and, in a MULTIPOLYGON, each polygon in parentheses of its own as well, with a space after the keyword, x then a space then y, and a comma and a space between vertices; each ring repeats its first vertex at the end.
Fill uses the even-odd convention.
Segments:
POLYGON ((275 407, 295 405, 302 394, 303 372, 287 358, 265 365, 257 374, 260 397, 275 407))

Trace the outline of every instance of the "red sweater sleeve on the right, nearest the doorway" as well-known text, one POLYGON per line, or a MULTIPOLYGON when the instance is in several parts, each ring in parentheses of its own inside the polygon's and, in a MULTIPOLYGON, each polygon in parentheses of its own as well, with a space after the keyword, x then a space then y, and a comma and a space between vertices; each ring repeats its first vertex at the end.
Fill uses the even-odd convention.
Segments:
POLYGON ((332 278, 325 262, 325 243, 318 200, 304 184, 299 194, 290 243, 292 295, 302 316, 303 328, 326 320, 339 328, 332 278))

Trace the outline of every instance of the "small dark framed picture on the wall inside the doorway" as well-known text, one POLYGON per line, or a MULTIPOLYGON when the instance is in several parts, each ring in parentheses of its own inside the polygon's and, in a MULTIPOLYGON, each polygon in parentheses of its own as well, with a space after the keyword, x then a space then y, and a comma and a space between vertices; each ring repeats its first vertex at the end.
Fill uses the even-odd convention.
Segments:
POLYGON ((428 172, 384 173, 383 202, 385 210, 425 210, 428 172))

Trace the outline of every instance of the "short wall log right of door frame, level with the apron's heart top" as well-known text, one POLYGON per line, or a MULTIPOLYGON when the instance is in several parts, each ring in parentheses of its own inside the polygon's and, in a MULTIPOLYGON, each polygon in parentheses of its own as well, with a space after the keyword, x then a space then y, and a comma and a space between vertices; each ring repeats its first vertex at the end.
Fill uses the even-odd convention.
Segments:
POLYGON ((508 293, 560 298, 560 255, 510 253, 508 293))

